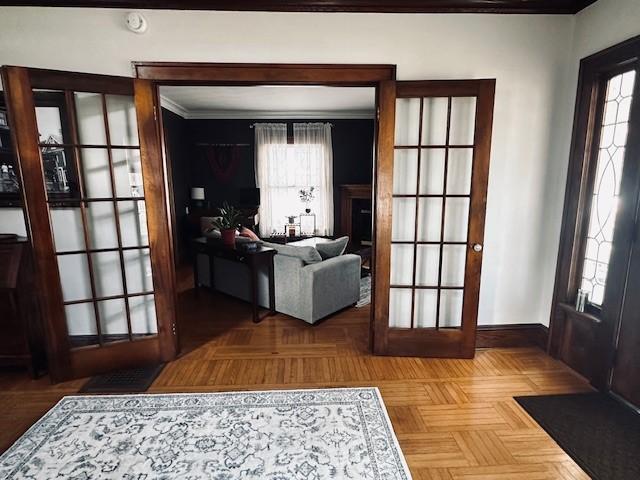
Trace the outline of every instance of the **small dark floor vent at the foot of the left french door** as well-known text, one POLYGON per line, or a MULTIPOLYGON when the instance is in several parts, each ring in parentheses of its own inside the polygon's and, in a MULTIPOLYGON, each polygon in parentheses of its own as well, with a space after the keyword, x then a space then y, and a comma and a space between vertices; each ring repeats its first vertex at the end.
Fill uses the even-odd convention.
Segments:
POLYGON ((97 375, 84 384, 80 393, 146 392, 163 368, 164 363, 161 363, 97 375))

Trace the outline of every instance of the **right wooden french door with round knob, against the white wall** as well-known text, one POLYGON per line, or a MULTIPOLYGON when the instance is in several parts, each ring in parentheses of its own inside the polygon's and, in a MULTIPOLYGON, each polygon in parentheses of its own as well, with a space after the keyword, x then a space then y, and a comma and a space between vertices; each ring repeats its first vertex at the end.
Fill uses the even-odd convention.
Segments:
POLYGON ((383 82, 374 352, 475 352, 494 80, 383 82))

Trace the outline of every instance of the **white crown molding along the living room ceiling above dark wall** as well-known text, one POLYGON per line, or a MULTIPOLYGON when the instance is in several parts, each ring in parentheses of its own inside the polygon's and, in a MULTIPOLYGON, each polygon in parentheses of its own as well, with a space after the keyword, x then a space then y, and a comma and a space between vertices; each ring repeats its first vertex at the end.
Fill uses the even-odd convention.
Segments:
POLYGON ((185 120, 348 120, 373 119, 375 110, 188 110, 160 95, 160 105, 185 120))

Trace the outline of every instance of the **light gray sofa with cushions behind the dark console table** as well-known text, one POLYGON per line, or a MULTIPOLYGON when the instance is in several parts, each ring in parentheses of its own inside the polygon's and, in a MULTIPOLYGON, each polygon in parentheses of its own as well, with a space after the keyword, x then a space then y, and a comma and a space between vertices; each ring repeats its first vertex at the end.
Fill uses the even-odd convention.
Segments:
MULTIPOLYGON (((360 297, 358 255, 346 254, 322 260, 314 247, 266 242, 265 245, 278 250, 274 257, 278 312, 313 324, 357 303, 360 297)), ((246 265, 216 257, 214 275, 218 291, 249 301, 251 279, 246 265)), ((198 256, 198 277, 203 285, 209 286, 209 261, 205 255, 198 256)), ((269 303, 268 286, 265 269, 258 275, 258 301, 263 307, 269 303)))

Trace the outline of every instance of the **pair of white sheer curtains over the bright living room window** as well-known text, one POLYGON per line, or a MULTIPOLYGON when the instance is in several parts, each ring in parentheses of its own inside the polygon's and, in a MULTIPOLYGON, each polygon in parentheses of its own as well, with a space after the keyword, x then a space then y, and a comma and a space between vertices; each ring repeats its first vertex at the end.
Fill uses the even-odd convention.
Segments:
POLYGON ((305 208, 316 215, 316 234, 333 234, 333 148, 331 126, 294 123, 294 144, 287 145, 287 126, 255 126, 256 183, 260 188, 260 236, 284 233, 287 216, 305 208), (300 190, 314 187, 307 205, 300 190))

